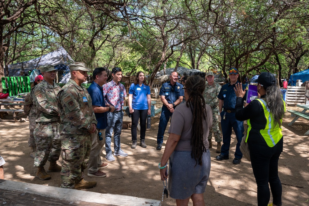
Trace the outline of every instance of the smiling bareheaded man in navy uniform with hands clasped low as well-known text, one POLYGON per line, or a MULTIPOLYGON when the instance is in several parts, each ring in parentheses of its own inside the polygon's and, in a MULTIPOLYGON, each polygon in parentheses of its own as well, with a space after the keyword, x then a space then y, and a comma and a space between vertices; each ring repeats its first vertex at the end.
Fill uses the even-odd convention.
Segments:
POLYGON ((184 97, 184 90, 182 84, 177 82, 178 73, 171 72, 170 81, 162 84, 160 89, 161 102, 163 103, 162 112, 160 116, 159 129, 157 135, 157 150, 162 149, 163 136, 167 126, 167 122, 170 120, 175 107, 182 102, 184 97))

